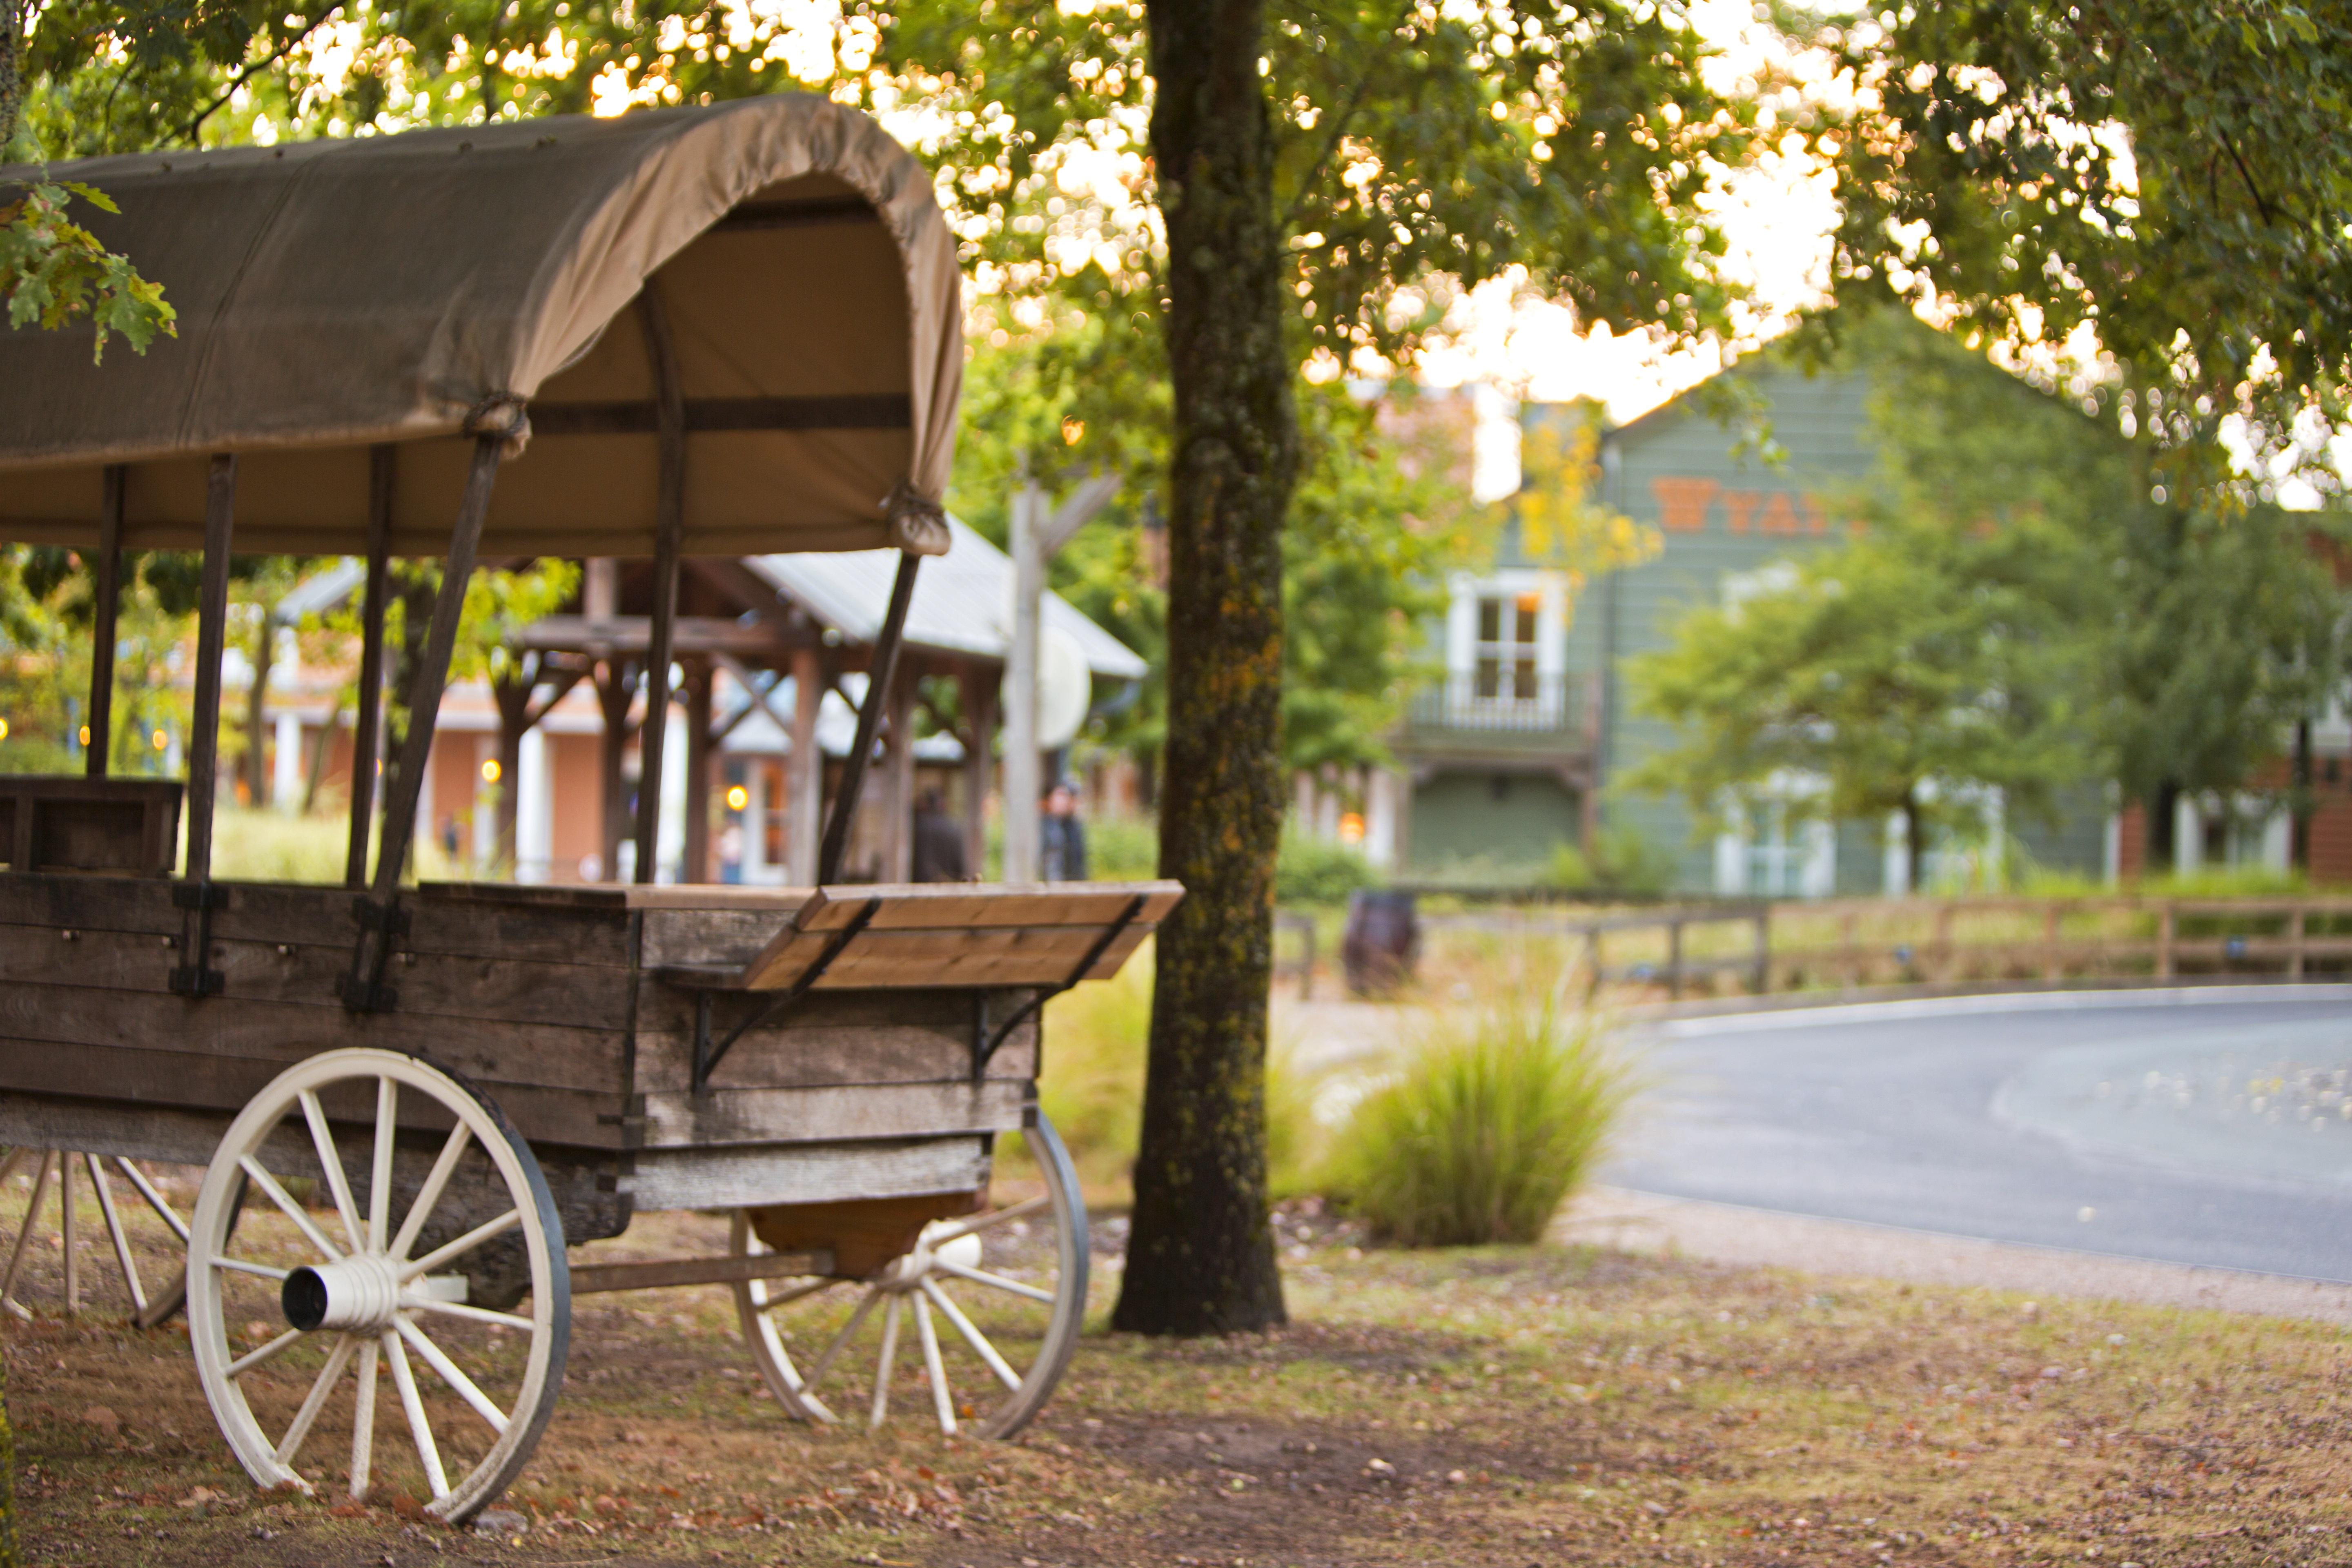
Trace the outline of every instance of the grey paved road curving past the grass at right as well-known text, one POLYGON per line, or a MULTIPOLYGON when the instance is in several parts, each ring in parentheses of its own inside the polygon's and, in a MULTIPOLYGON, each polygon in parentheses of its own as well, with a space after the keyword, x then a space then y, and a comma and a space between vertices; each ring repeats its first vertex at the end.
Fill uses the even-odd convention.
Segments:
POLYGON ((2352 1281, 2352 987, 1752 1013, 1639 1044, 1618 1187, 2352 1281))

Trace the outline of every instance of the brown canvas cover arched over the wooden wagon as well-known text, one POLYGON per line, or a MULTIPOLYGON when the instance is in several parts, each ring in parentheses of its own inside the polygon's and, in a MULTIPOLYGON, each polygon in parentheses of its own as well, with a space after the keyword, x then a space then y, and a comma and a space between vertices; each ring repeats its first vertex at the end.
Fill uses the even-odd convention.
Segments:
MULTIPOLYGON (((0 169, 0 179, 31 169, 0 169)), ((962 390, 955 237, 880 125, 807 94, 717 108, 52 165, 165 284, 179 339, 0 331, 0 536, 202 543, 240 456, 240 550, 365 548, 400 442, 395 552, 445 548, 468 414, 524 400, 485 555, 652 555, 652 280, 687 400, 687 555, 943 550, 962 390), (898 503, 889 503, 889 496, 898 503), (929 503, 929 505, 927 505, 929 503)))

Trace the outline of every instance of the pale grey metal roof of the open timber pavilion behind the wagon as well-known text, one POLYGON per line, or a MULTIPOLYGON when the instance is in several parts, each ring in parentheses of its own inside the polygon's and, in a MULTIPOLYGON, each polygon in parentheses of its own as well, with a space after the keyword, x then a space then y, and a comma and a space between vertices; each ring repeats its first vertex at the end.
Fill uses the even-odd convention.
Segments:
MULTIPOLYGON (((1014 562, 1004 550, 948 517, 948 552, 922 564, 915 602, 906 611, 910 646, 1004 661, 1011 646, 1014 562)), ((849 642, 870 644, 889 609, 896 550, 837 555, 750 555, 743 567, 849 642)), ((1068 632, 1087 668, 1110 679, 1143 679, 1150 665, 1124 642, 1049 592, 1042 623, 1068 632)))

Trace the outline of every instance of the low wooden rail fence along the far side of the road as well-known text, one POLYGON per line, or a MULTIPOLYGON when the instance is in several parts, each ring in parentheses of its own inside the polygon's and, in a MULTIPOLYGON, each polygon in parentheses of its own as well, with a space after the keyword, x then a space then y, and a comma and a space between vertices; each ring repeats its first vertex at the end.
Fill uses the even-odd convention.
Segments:
POLYGON ((2352 898, 1858 898, 1595 917, 1425 914, 1432 938, 1564 943, 1588 987, 1818 990, 2067 978, 2352 978, 2352 898))

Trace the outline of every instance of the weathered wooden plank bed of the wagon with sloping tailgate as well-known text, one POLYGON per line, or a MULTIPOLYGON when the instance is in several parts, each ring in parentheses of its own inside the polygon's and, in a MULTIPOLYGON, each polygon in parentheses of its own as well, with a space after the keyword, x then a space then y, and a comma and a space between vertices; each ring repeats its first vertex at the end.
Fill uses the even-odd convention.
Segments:
POLYGON ((172 990, 188 912, 169 882, 0 875, 0 1143, 200 1164, 289 1063, 386 1046, 506 1110, 572 1190, 574 1239, 614 1234, 630 1206, 978 1185, 981 1140, 1018 1128, 1035 1098, 1035 1013, 1014 1016, 1115 973, 1181 896, 426 884, 386 971, 390 1006, 355 1013, 336 985, 362 893, 216 886, 221 990, 191 1001, 172 990), (746 1020, 696 1084, 699 1027, 708 1041, 746 1020))

